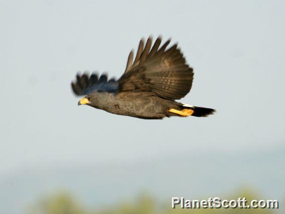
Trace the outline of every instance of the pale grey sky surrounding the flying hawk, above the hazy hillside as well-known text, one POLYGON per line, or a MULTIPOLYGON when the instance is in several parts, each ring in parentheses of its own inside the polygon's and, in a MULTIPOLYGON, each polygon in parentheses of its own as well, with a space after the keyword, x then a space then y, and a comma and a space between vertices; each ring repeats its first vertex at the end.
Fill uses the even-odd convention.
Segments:
POLYGON ((283 1, 0 0, 0 173, 284 151, 284 7, 283 1), (119 77, 129 51, 151 34, 172 37, 194 68, 182 101, 217 114, 153 121, 77 106, 70 88, 77 71, 119 77))

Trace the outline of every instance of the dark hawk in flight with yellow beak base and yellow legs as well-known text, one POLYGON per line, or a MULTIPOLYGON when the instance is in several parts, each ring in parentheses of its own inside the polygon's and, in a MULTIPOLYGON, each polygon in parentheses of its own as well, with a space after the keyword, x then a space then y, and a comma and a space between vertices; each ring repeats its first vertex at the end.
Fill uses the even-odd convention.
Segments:
POLYGON ((118 80, 108 80, 105 74, 99 78, 95 73, 77 74, 71 86, 76 95, 84 96, 78 105, 141 119, 213 114, 213 109, 175 101, 190 91, 193 68, 186 63, 177 44, 167 48, 170 40, 161 43, 161 37, 154 45, 151 37, 146 44, 141 39, 134 60, 131 51, 125 71, 118 80))

